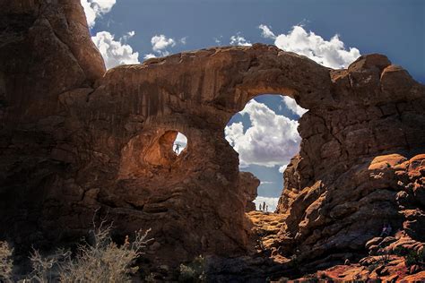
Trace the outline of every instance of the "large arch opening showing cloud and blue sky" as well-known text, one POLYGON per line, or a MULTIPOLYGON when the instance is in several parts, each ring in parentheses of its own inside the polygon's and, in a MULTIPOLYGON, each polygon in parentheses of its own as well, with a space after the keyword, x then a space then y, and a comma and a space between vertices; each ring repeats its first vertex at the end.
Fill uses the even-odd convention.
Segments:
POLYGON ((239 153, 239 171, 260 180, 256 210, 265 203, 276 209, 282 194, 282 173, 299 152, 298 120, 307 112, 295 99, 281 94, 263 94, 247 102, 224 129, 226 140, 239 153))

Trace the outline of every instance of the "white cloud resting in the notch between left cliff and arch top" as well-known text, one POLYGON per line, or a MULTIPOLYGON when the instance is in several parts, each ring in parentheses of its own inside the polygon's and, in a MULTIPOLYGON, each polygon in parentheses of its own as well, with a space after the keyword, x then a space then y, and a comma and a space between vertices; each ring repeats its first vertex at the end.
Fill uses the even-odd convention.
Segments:
MULTIPOLYGON (((134 36, 134 31, 130 31, 134 36)), ((127 34, 129 36, 129 34, 127 34)), ((107 69, 120 64, 138 64, 139 53, 133 52, 133 48, 123 43, 125 39, 114 39, 114 35, 108 31, 100 31, 91 38, 98 47, 100 54, 105 60, 107 69)))

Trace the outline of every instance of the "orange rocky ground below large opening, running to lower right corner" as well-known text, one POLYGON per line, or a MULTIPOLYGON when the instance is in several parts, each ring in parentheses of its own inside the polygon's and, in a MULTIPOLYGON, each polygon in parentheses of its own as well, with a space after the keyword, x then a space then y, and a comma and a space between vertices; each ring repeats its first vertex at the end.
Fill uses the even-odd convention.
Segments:
MULTIPOLYGON (((279 253, 278 232, 284 226, 285 215, 279 213, 265 213, 251 211, 247 213, 252 221, 253 253, 271 259, 276 266, 285 270, 285 277, 279 278, 279 271, 270 270, 268 276, 272 281, 285 280, 383 280, 394 281, 421 281, 425 280, 425 253, 421 243, 413 241, 402 233, 390 236, 375 237, 365 245, 365 256, 358 261, 351 262, 345 258, 339 259, 343 264, 336 264, 328 269, 312 269, 315 272, 297 266, 296 258, 285 258, 279 253), (291 274, 291 272, 293 272, 291 274), (299 276, 299 274, 304 274, 299 276)), ((338 259, 337 259, 338 260, 338 259)))

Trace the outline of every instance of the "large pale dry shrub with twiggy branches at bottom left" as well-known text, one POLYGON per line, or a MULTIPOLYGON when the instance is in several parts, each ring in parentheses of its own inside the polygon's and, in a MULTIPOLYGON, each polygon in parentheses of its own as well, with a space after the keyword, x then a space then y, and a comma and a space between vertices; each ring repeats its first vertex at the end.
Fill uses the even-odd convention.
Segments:
POLYGON ((150 230, 135 233, 134 241, 128 236, 124 244, 118 245, 110 238, 111 226, 94 227, 92 243, 83 241, 74 256, 70 252, 58 251, 43 257, 38 251, 30 256, 31 282, 130 282, 130 276, 137 272, 134 261, 142 254, 143 248, 151 240, 147 239, 150 230))

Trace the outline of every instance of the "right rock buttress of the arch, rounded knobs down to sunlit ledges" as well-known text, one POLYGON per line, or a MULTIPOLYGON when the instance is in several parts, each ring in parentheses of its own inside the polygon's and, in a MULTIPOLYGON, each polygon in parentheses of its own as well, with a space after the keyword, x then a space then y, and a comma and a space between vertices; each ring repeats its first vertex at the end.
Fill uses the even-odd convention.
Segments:
POLYGON ((386 223, 425 241, 423 86, 377 55, 330 75, 334 99, 346 106, 301 118, 301 149, 284 172, 277 209, 288 215, 283 254, 343 258, 362 252, 386 223))

